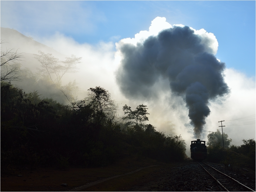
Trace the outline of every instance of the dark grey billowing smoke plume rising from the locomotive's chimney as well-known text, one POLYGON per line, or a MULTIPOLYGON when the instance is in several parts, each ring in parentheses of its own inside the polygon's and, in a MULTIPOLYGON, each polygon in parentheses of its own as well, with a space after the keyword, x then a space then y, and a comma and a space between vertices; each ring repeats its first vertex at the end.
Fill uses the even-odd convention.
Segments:
POLYGON ((188 26, 174 26, 136 46, 119 44, 123 59, 116 79, 123 94, 150 97, 159 78, 168 78, 172 92, 184 96, 194 134, 199 137, 210 114, 209 99, 229 92, 223 79, 225 63, 213 55, 210 42, 188 26))

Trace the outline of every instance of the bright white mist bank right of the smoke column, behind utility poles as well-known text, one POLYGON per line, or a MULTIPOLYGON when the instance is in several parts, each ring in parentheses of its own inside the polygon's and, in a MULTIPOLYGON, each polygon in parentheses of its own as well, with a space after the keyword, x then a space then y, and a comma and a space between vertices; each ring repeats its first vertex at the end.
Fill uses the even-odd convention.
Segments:
POLYGON ((227 133, 229 138, 232 138, 232 143, 235 145, 241 145, 242 139, 255 139, 255 124, 241 125, 241 126, 228 126, 229 124, 236 124, 248 121, 255 121, 255 117, 252 120, 247 121, 227 121, 234 120, 249 115, 254 115, 256 111, 256 89, 255 79, 248 78, 245 74, 236 71, 234 69, 226 69, 225 80, 230 87, 230 95, 225 99, 212 101, 210 103, 211 114, 206 118, 206 131, 216 131, 220 129, 218 127, 218 121, 225 120, 223 125, 223 132, 227 133), (216 125, 216 126, 215 126, 216 125))

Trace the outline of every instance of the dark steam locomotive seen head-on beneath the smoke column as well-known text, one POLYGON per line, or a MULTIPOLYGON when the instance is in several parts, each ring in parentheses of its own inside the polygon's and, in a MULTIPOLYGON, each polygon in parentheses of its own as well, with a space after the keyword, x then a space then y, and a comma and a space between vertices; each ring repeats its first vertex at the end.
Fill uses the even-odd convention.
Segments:
POLYGON ((205 141, 197 139, 196 141, 191 141, 190 145, 191 158, 194 160, 203 160, 207 158, 207 148, 205 141))

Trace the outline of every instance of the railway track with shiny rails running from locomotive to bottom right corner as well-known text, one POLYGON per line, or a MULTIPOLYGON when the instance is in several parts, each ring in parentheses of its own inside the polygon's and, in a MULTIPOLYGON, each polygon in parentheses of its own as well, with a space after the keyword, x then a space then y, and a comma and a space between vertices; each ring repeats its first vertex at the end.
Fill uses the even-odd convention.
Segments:
POLYGON ((214 167, 207 165, 204 162, 197 162, 204 170, 217 182, 217 185, 223 191, 254 191, 251 188, 243 185, 232 177, 220 172, 214 167))

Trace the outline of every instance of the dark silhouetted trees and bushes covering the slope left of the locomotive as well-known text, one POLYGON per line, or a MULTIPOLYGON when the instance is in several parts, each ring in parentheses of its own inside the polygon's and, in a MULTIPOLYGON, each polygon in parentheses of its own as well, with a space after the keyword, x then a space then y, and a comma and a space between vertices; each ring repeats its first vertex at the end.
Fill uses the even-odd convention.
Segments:
POLYGON ((125 105, 127 116, 118 120, 116 104, 107 90, 88 91, 87 99, 64 105, 1 82, 1 168, 97 167, 126 155, 166 162, 186 157, 180 136, 166 136, 142 123, 148 120, 145 105, 137 111, 125 105))

